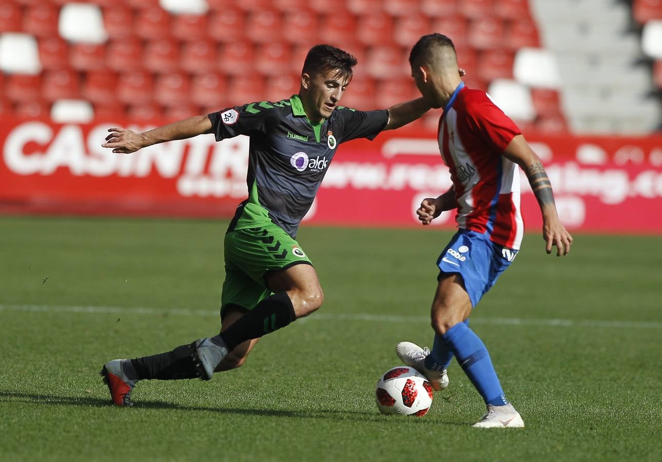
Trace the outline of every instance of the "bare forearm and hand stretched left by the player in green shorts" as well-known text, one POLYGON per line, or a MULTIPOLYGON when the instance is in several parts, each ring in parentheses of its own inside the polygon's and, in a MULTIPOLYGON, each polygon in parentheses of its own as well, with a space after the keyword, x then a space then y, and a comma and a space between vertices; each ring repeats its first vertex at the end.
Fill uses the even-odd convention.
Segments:
POLYGON ((211 120, 208 116, 194 116, 173 122, 146 132, 134 132, 125 128, 109 128, 111 132, 106 142, 101 146, 111 148, 117 154, 130 154, 152 144, 171 140, 183 140, 193 136, 208 133, 211 130, 211 120))

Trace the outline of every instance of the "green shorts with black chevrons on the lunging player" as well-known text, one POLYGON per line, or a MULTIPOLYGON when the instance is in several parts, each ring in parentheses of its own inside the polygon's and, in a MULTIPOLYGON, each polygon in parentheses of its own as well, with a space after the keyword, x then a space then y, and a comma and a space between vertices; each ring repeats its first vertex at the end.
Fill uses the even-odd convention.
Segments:
POLYGON ((250 310, 269 297, 272 292, 265 281, 268 271, 280 271, 300 263, 312 265, 299 243, 275 224, 226 233, 224 257, 221 316, 228 304, 250 310))

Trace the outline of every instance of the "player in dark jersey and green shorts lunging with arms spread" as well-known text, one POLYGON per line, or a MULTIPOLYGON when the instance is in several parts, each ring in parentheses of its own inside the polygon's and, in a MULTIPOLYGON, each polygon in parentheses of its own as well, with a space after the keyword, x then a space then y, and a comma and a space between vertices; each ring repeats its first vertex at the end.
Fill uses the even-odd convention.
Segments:
POLYGON ((224 239, 220 334, 166 353, 106 363, 101 375, 115 404, 130 405, 139 380, 209 380, 214 372, 239 367, 261 336, 322 306, 317 273, 296 237, 338 145, 372 140, 430 109, 422 98, 381 111, 339 106, 356 64, 343 50, 317 45, 304 62, 299 94, 289 99, 230 107, 142 133, 109 130, 103 146, 120 154, 205 133, 217 141, 250 137, 248 199, 224 239))

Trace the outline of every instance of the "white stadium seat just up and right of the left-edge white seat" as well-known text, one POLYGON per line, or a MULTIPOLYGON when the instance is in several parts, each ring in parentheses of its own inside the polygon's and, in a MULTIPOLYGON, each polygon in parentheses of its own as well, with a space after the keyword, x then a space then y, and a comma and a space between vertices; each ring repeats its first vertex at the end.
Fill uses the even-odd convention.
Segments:
POLYGON ((108 40, 103 15, 97 5, 68 3, 60 10, 60 36, 70 42, 101 44, 108 40))

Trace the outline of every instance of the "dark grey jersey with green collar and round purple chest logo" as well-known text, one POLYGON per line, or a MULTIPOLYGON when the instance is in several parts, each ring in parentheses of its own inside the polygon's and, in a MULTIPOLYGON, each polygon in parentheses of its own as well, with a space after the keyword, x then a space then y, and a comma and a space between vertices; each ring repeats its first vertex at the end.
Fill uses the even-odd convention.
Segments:
POLYGON ((296 238, 326 169, 342 142, 372 140, 389 113, 356 111, 339 106, 319 124, 311 124, 301 99, 262 101, 209 115, 216 141, 250 136, 248 199, 242 202, 229 230, 273 222, 296 238))

